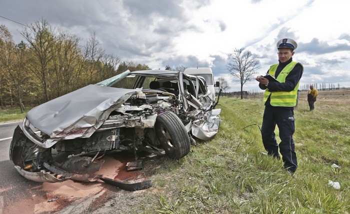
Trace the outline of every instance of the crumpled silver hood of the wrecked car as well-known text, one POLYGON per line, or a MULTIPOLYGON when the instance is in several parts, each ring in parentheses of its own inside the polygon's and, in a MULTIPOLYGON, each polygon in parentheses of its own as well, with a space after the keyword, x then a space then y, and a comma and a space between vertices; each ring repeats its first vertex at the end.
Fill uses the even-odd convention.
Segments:
POLYGON ((51 139, 89 137, 114 109, 139 91, 88 85, 36 106, 26 118, 51 139))

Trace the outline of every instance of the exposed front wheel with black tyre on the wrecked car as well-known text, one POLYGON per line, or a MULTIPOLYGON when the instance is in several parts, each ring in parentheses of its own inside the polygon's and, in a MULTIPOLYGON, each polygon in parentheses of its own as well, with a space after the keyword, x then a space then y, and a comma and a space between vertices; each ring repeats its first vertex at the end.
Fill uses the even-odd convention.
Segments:
POLYGON ((189 153, 190 140, 181 120, 172 112, 159 114, 155 133, 167 156, 180 159, 189 153))

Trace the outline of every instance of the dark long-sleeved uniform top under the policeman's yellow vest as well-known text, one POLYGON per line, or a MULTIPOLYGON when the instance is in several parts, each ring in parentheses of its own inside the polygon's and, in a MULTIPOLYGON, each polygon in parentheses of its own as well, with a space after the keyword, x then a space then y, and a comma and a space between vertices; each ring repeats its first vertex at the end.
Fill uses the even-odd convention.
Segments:
MULTIPOLYGON (((286 62, 280 62, 278 60, 278 66, 276 69, 276 72, 274 73, 274 77, 277 78, 278 74, 283 70, 283 68, 289 64, 293 59, 290 57, 290 59, 286 62)), ((259 83, 259 88, 265 90, 268 88, 268 91, 292 91, 297 83, 299 82, 301 75, 302 75, 302 65, 300 63, 297 63, 293 69, 289 72, 289 74, 285 77, 285 82, 268 82, 267 87, 261 83, 259 83)), ((270 106, 270 97, 267 98, 265 105, 270 106)), ((283 108, 294 108, 294 107, 283 107, 283 108)))

